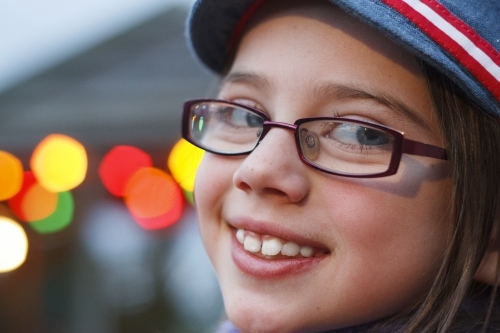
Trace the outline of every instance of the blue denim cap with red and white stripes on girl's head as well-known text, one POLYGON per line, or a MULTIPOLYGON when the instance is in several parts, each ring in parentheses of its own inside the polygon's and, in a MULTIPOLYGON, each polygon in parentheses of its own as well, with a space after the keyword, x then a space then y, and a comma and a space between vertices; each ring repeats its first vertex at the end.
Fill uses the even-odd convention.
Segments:
MULTIPOLYGON (((221 73, 264 1, 196 1, 187 38, 203 65, 221 73)), ((436 67, 486 112, 500 116, 499 0, 329 1, 436 67)))

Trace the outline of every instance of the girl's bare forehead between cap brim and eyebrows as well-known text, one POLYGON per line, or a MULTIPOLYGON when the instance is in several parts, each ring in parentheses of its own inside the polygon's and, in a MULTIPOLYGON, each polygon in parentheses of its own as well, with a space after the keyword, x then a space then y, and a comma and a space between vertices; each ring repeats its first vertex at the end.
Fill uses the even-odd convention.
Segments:
POLYGON ((223 91, 226 84, 246 84, 273 99, 331 102, 346 96, 335 87, 346 88, 359 92, 347 94, 358 101, 384 97, 378 102, 394 101, 403 111, 416 110, 424 122, 435 122, 415 57, 325 1, 273 1, 259 8, 229 70, 227 78, 234 77, 254 79, 225 80, 223 91))

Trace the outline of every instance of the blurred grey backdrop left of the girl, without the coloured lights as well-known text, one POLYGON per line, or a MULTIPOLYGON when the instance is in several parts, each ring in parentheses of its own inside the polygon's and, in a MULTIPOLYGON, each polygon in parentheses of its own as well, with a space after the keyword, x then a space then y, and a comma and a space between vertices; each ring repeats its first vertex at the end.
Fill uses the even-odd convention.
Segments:
MULTIPOLYGON (((0 271, 0 332, 212 332, 224 317, 189 202, 175 223, 150 230, 98 172, 120 145, 169 172, 183 101, 215 92, 184 39, 190 3, 0 2, 0 151, 27 171, 57 133, 88 158, 71 221, 56 232, 31 228, 0 199, 0 218, 27 236, 24 261, 0 271)), ((1 236, 0 262, 12 251, 1 236)))

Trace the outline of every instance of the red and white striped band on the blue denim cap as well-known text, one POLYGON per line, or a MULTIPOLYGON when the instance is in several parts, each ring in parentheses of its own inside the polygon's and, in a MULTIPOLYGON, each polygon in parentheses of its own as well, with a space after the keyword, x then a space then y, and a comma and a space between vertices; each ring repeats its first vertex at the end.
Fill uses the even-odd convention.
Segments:
POLYGON ((383 2, 412 21, 453 55, 500 102, 500 53, 471 27, 435 0, 383 0, 383 2), (425 6, 420 8, 424 10, 418 11, 409 2, 425 6), (442 20, 456 30, 443 27, 442 20))

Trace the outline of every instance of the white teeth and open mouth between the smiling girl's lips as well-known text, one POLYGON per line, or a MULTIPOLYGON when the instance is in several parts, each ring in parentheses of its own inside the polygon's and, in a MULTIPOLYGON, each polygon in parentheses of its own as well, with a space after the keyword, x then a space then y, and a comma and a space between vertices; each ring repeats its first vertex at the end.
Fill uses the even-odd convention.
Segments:
POLYGON ((246 251, 264 259, 312 258, 326 254, 322 249, 244 229, 236 230, 236 239, 246 251))

